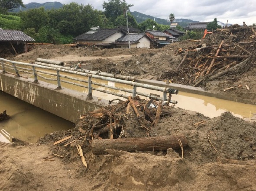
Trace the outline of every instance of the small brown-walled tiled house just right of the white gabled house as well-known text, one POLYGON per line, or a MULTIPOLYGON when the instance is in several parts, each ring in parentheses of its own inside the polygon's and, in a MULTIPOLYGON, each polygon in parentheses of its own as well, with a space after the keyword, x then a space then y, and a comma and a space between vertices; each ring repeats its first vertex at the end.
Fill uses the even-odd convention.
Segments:
POLYGON ((170 44, 172 39, 174 39, 173 36, 161 31, 146 30, 145 33, 149 38, 152 39, 153 46, 156 48, 162 48, 163 46, 170 44))

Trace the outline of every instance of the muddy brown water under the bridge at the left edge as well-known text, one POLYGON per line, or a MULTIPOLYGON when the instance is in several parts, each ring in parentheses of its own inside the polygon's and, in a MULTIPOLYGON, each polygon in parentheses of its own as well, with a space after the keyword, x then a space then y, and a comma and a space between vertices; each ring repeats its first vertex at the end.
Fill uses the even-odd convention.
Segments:
POLYGON ((70 121, 0 91, 0 113, 4 110, 10 119, 0 121, 0 141, 6 143, 12 137, 35 143, 46 133, 75 127, 70 121))

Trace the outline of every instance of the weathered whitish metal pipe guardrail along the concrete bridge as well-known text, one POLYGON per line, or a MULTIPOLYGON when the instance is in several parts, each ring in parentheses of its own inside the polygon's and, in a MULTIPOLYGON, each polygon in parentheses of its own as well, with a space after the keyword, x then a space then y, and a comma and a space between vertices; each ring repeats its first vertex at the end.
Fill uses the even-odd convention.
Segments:
POLYGON ((100 71, 91 71, 91 70, 74 69, 74 68, 71 68, 71 67, 63 67, 62 62, 58 63, 58 61, 52 61, 52 60, 46 60, 45 61, 45 59, 41 59, 40 60, 41 62, 35 62, 35 64, 29 64, 29 63, 17 62, 17 61, 12 61, 12 60, 6 60, 4 58, 0 58, 0 60, 1 60, 1 64, 2 64, 3 73, 8 73, 8 72, 6 72, 6 68, 9 68, 9 69, 15 71, 17 77, 21 77, 19 72, 29 73, 29 74, 33 75, 34 76, 34 83, 39 83, 38 79, 37 79, 38 76, 42 77, 45 80, 57 81, 57 88, 56 89, 62 89, 61 82, 73 84, 75 86, 84 87, 84 88, 88 89, 87 99, 92 99, 92 90, 96 90, 96 91, 99 91, 99 92, 104 92, 104 93, 107 93, 107 94, 112 94, 112 95, 115 95, 115 96, 118 96, 118 97, 123 97, 123 98, 126 98, 126 99, 129 97, 129 96, 126 96, 124 94, 115 93, 115 92, 111 92, 111 91, 108 91, 108 90, 102 90, 102 89, 99 89, 99 88, 94 88, 94 87, 92 87, 92 84, 94 84, 94 85, 97 85, 97 86, 102 86, 102 87, 106 87, 106 88, 110 88, 110 89, 116 89, 116 90, 120 90, 120 91, 123 91, 123 92, 131 93, 133 98, 136 95, 139 95, 139 96, 145 96, 145 97, 156 99, 156 100, 166 101, 167 100, 167 93, 169 93, 168 101, 170 103, 177 104, 176 101, 170 100, 172 94, 178 94, 177 89, 163 88, 163 87, 159 87, 159 86, 153 86, 153 85, 149 85, 149 84, 128 81, 128 80, 133 79, 133 77, 130 77, 130 76, 113 75, 113 74, 110 74, 110 73, 105 73, 105 72, 100 72, 100 71), (45 61, 46 63, 42 63, 42 61, 45 61), (8 63, 10 63, 10 64, 8 64, 8 63), (17 66, 17 65, 19 65, 19 66, 17 66), (32 69, 24 68, 24 67, 20 67, 20 66, 29 66, 29 67, 32 67, 32 69), (52 71, 55 71, 56 73, 51 73, 49 71, 39 70, 39 68, 52 70, 52 71), (68 75, 62 75, 62 74, 60 74, 60 72, 76 74, 76 75, 79 75, 79 76, 86 76, 86 77, 88 77, 88 80, 83 80, 83 79, 75 78, 75 77, 68 76, 68 75), (56 78, 47 78, 47 77, 42 76, 41 74, 38 74, 38 73, 47 74, 47 75, 54 76, 54 77, 56 76, 56 78), (86 86, 86 85, 82 85, 82 84, 79 84, 79 83, 75 83, 75 82, 71 82, 71 81, 67 81, 67 80, 62 80, 61 78, 87 83, 88 85, 86 86), (93 82, 92 78, 130 85, 130 86, 133 86, 133 90, 93 82), (152 94, 146 94, 146 93, 143 93, 143 92, 137 92, 137 90, 136 90, 137 87, 142 87, 142 88, 146 88, 146 89, 160 91, 160 92, 162 92, 163 96, 160 97, 158 95, 152 95, 152 94))

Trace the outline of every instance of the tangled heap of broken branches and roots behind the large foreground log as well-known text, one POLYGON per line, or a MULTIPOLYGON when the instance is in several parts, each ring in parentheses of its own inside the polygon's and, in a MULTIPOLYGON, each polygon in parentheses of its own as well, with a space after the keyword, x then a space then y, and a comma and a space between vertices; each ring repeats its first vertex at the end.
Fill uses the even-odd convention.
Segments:
MULTIPOLYGON (((110 104, 113 101, 116 100, 110 104)), ((76 125, 79 131, 93 139, 152 137, 152 127, 156 127, 160 118, 173 113, 172 107, 153 99, 147 101, 137 96, 118 101, 117 105, 83 115, 76 125)))

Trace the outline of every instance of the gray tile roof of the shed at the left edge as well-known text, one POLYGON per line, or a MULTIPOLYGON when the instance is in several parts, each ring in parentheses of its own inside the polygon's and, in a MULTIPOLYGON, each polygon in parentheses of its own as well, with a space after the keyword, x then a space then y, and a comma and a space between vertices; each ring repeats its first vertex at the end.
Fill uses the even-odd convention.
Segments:
POLYGON ((0 29, 0 41, 35 41, 24 32, 0 29))

